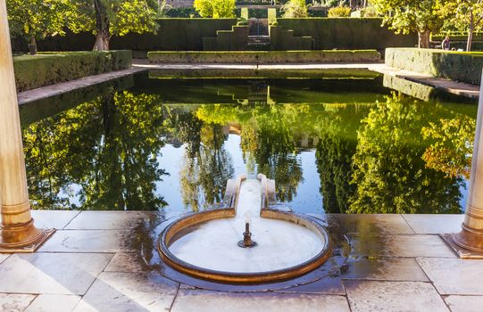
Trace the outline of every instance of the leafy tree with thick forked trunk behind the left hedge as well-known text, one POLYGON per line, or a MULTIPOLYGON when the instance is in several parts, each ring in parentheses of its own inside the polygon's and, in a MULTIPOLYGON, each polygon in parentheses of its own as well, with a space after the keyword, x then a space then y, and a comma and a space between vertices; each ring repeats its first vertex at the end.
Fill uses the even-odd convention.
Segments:
MULTIPOLYGON (((69 28, 74 32, 89 31, 96 35, 94 50, 109 50, 112 36, 129 32, 156 31, 159 5, 154 0, 71 0, 69 28)), ((164 6, 162 6, 164 7, 164 6)))

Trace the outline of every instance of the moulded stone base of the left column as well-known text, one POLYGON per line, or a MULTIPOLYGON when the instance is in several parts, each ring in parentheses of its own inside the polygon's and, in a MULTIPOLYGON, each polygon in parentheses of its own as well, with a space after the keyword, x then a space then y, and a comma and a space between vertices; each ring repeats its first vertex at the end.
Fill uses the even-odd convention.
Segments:
POLYGON ((38 229, 34 220, 0 228, 0 253, 34 252, 54 234, 55 229, 38 229))

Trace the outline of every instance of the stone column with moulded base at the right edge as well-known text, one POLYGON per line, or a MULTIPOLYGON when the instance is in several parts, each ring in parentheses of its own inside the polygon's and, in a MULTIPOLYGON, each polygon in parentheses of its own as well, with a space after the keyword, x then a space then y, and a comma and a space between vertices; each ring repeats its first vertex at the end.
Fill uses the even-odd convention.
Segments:
POLYGON ((444 235, 461 258, 483 258, 483 84, 479 91, 479 107, 473 160, 471 163, 470 193, 462 231, 444 235))

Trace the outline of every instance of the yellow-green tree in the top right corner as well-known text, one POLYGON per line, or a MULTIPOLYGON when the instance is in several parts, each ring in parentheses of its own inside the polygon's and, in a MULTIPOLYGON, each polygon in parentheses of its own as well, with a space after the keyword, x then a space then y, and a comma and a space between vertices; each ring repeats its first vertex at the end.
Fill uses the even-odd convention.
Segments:
POLYGON ((483 0, 447 1, 443 11, 454 26, 468 30, 466 51, 471 51, 473 32, 483 27, 483 0))

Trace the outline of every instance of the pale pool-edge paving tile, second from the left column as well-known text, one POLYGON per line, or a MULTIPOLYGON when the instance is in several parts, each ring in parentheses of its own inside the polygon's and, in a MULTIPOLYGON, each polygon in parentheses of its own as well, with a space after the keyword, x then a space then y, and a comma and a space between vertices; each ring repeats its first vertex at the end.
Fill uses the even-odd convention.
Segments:
POLYGON ((82 211, 66 230, 129 230, 154 216, 148 211, 82 211))

